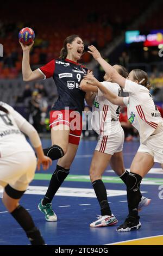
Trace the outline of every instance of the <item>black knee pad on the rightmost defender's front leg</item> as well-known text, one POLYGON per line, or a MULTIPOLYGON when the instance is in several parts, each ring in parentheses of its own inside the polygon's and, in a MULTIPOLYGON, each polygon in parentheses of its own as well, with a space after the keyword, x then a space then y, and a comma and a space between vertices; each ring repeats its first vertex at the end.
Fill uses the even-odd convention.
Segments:
POLYGON ((127 190, 136 192, 140 190, 140 182, 142 177, 137 173, 130 172, 126 179, 127 190))

